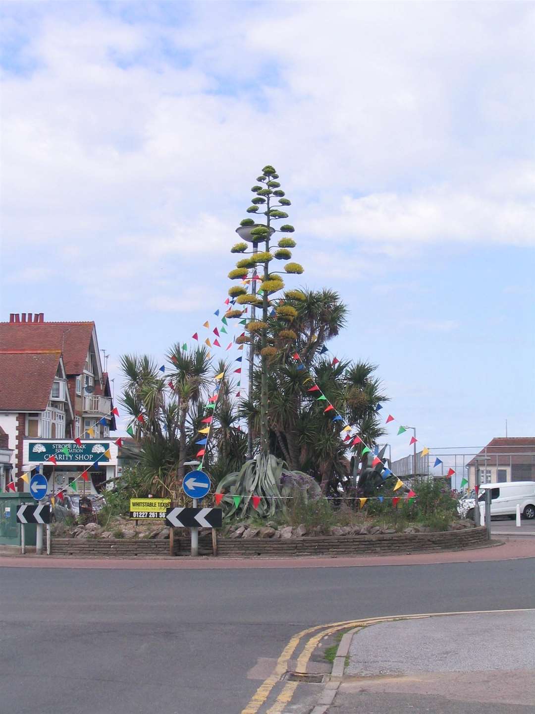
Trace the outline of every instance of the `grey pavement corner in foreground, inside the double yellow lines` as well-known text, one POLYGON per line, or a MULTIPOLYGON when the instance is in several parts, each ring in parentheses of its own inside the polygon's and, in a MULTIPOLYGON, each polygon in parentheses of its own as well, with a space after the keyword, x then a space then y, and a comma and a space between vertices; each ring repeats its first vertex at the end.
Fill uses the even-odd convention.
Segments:
POLYGON ((533 714, 534 631, 535 610, 361 628, 352 636, 349 663, 325 712, 533 714))

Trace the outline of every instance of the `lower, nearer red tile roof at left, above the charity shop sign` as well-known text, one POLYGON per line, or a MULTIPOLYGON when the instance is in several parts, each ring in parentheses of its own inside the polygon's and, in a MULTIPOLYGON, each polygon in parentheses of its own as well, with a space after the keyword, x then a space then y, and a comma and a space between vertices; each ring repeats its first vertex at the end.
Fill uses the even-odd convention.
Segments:
POLYGON ((0 411, 44 411, 60 351, 0 350, 0 411))

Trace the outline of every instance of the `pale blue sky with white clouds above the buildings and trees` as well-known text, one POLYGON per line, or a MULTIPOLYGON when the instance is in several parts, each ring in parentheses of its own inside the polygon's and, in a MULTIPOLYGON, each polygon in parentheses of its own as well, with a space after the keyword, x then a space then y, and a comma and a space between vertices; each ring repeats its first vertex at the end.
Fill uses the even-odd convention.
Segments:
MULTIPOLYGON (((430 448, 535 435, 535 4, 2 5, 1 304, 163 361, 221 306, 265 164, 295 287, 430 448)), ((292 278, 286 283, 289 285, 292 278)), ((292 283, 292 286, 293 283, 292 283)))

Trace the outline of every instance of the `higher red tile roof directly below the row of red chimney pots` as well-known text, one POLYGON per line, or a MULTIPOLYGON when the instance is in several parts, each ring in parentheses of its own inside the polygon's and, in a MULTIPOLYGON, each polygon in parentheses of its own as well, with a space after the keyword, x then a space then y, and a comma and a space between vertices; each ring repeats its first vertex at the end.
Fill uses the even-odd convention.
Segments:
POLYGON ((59 350, 67 374, 81 374, 94 322, 0 322, 0 349, 59 350))

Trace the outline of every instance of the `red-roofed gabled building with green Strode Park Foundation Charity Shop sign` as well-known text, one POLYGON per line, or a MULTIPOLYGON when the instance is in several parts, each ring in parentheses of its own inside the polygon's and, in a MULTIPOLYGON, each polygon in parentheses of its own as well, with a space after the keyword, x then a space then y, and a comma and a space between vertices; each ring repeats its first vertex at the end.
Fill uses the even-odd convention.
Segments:
MULTIPOLYGON (((56 485, 90 466, 116 429, 112 410, 95 323, 45 322, 43 313, 11 314, 0 323, 0 427, 13 450, 11 477, 19 490, 25 488, 22 474, 51 454, 58 461, 56 485), (74 438, 83 440, 82 448, 74 438), (61 453, 66 444, 68 456, 61 453)), ((112 456, 91 474, 93 486, 113 478, 116 448, 112 456)), ((51 466, 44 473, 51 476, 51 466)))

